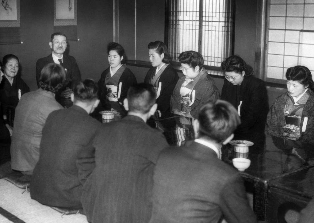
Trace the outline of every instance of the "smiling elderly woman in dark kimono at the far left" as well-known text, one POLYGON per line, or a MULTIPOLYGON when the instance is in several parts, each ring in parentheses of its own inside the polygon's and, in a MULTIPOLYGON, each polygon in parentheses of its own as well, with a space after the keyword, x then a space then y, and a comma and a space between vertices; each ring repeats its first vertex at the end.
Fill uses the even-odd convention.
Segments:
POLYGON ((8 106, 16 107, 21 96, 30 91, 19 74, 19 58, 13 54, 2 59, 1 71, 4 74, 0 84, 0 103, 4 118, 8 114, 8 106))

